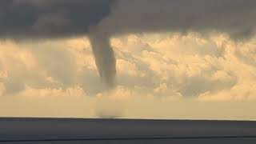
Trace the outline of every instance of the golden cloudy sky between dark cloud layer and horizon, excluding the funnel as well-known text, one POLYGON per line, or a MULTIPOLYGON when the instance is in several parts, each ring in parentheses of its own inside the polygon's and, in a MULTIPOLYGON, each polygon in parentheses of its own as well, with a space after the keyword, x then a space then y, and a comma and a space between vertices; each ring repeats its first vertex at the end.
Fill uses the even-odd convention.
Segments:
POLYGON ((104 91, 86 37, 0 42, 0 116, 256 120, 256 41, 225 34, 110 39, 104 91))

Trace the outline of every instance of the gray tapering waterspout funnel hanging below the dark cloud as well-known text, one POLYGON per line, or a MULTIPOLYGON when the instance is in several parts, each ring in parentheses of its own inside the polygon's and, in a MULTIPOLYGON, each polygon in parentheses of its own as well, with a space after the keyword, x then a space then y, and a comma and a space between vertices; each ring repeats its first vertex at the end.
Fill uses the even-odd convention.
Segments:
POLYGON ((106 89, 111 89, 115 86, 116 59, 114 50, 110 46, 110 39, 101 33, 91 33, 90 43, 102 82, 106 89))

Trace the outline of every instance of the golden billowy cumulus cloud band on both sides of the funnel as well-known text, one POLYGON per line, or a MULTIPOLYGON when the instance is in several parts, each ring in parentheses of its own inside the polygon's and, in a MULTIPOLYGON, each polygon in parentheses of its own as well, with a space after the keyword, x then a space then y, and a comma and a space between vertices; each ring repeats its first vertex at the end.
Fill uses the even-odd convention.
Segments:
MULTIPOLYGON (((254 82, 255 67, 238 55, 254 58, 254 54, 247 52, 253 50, 253 40, 234 42, 222 35, 202 38, 194 33, 186 36, 130 34, 113 38, 111 45, 117 51, 118 85, 145 94, 196 98, 254 82), (157 37, 157 41, 152 41, 157 37), (192 47, 191 50, 183 52, 184 43, 192 47)), ((6 92, 19 92, 25 86, 67 88, 78 85, 88 94, 98 94, 102 86, 90 47, 88 38, 48 41, 40 45, 37 42, 2 42, 1 79, 6 92)))

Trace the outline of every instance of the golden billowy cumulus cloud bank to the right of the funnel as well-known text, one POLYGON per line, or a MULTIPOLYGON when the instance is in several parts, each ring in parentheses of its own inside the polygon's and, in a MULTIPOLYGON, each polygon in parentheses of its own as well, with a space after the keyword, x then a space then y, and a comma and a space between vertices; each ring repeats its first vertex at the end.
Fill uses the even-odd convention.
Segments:
MULTIPOLYGON (((204 98, 209 95, 211 100, 218 101, 222 100, 218 99, 218 93, 233 91, 240 82, 248 85, 254 83, 254 74, 251 73, 254 66, 243 62, 237 55, 247 46, 253 47, 254 40, 235 42, 224 35, 213 34, 210 38, 203 38, 196 33, 185 36, 170 33, 146 36, 133 34, 115 41, 113 45, 118 51, 117 58, 125 59, 143 75, 126 75, 128 78, 120 78, 122 84, 140 88, 155 96, 202 98, 203 94, 204 98), (127 39, 130 37, 134 41, 129 42, 127 39), (142 49, 134 52, 133 46, 142 49), (216 99, 211 98, 214 95, 216 99)), ((247 57, 254 58, 254 55, 248 54, 247 57)), ((222 94, 223 98, 225 94, 222 94)), ((232 94, 228 95, 226 99, 238 100, 232 94)), ((247 98, 246 94, 238 95, 241 96, 240 100, 247 98)))

